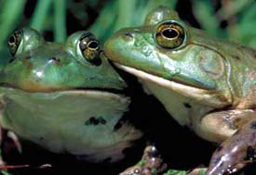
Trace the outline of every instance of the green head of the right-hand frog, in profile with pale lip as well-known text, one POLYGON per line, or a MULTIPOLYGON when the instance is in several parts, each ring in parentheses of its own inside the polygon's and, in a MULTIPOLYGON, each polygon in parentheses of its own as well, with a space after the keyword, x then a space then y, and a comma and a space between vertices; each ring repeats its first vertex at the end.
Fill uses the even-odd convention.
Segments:
POLYGON ((144 25, 117 31, 104 45, 115 65, 210 106, 230 104, 228 65, 203 31, 187 26, 177 13, 158 7, 144 25))

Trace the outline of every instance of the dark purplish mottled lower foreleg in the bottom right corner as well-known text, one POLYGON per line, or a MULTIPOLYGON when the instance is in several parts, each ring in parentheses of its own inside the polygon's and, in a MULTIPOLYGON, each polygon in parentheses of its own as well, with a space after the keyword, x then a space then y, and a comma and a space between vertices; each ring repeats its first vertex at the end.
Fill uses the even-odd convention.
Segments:
POLYGON ((256 118, 223 142, 211 157, 206 175, 231 174, 256 158, 256 118))

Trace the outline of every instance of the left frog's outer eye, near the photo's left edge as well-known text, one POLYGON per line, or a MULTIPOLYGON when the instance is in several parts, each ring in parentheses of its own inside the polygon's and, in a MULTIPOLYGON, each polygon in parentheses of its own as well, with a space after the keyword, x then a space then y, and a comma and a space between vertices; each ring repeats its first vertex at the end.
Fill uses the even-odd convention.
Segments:
POLYGON ((21 38, 22 38, 21 30, 16 30, 9 36, 8 47, 9 47, 10 54, 12 56, 14 56, 16 54, 16 52, 20 46, 21 38))

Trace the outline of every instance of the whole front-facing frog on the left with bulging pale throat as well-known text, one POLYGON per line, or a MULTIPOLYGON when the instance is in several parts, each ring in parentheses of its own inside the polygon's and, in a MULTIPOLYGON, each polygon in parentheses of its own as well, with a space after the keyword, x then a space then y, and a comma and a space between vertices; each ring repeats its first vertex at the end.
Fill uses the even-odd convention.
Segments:
MULTIPOLYGON (((10 45, 18 35, 10 37, 10 45)), ((122 94, 127 84, 94 36, 78 31, 66 44, 45 42, 28 28, 19 36, 0 72, 1 126, 54 153, 92 162, 122 159, 141 131, 122 119, 130 103, 122 94), (79 47, 82 38, 94 42, 88 52, 79 47)))

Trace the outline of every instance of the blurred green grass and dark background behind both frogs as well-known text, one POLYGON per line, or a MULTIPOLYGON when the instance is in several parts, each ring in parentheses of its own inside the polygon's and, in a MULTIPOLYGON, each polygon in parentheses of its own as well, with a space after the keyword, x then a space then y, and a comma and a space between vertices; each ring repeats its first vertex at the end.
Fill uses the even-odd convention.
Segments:
POLYGON ((89 30, 104 41, 120 28, 138 26, 155 6, 175 8, 182 19, 212 35, 256 48, 255 0, 0 0, 0 49, 11 31, 30 26, 49 41, 64 42, 89 30))

